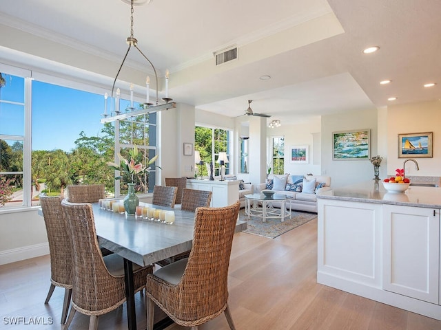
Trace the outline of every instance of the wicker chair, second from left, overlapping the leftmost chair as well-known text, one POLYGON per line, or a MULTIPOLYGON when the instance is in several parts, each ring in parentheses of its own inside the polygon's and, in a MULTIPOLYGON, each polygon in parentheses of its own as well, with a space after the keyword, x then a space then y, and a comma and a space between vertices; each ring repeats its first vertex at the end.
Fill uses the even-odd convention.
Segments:
MULTIPOLYGON (((63 199, 61 208, 74 251, 72 307, 64 329, 68 329, 76 311, 90 316, 89 329, 97 329, 99 316, 126 300, 123 258, 117 254, 103 258, 90 203, 70 203, 63 199)), ((152 266, 133 266, 134 292, 139 292, 145 288, 145 278, 152 273, 152 266)))

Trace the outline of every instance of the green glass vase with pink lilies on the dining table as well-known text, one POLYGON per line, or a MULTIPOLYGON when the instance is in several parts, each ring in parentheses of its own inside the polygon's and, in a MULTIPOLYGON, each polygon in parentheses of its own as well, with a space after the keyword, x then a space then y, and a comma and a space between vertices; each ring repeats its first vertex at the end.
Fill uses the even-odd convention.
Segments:
MULTIPOLYGON (((118 165, 112 162, 108 162, 107 165, 110 166, 110 168, 113 168, 114 170, 119 170, 120 174, 121 173, 126 174, 130 177, 131 182, 127 183, 127 186, 129 188, 128 188, 127 196, 125 196, 123 203, 124 203, 125 212, 127 214, 135 214, 136 206, 139 206, 139 198, 138 196, 136 196, 136 192, 134 189, 135 187, 134 178, 135 176, 141 176, 145 173, 149 173, 152 168, 150 166, 143 167, 143 164, 139 162, 140 155, 136 145, 132 149, 130 149, 129 155, 130 155, 130 162, 119 153, 118 157, 120 160, 120 164, 118 165), (136 164, 136 162, 139 163, 136 164)), ((150 160, 146 159, 147 166, 153 164, 156 161, 156 159, 158 159, 158 155, 154 156, 150 160)), ((159 166, 156 167, 161 168, 159 166)), ((115 179, 120 180, 122 177, 123 175, 120 175, 119 177, 115 177, 115 179)))

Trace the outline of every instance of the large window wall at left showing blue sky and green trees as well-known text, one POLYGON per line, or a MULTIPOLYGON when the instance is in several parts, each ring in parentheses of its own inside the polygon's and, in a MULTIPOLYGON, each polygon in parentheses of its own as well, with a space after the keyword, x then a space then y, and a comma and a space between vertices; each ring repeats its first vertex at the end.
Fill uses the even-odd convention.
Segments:
MULTIPOLYGON (((115 181, 107 162, 119 162, 115 147, 125 155, 134 144, 144 162, 154 157, 156 113, 101 124, 102 95, 23 78, 30 72, 14 75, 8 68, 0 64, 0 210, 37 206, 41 192, 59 195, 69 184, 104 184, 109 196, 125 194, 127 178, 115 181)), ((129 104, 121 100, 121 109, 129 104)), ((153 189, 151 167, 136 181, 139 192, 153 189)))

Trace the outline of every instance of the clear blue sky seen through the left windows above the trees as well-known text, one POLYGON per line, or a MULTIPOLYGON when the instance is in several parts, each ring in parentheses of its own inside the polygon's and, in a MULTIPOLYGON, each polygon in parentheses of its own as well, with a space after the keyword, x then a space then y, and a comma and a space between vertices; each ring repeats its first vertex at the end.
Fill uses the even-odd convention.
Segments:
MULTIPOLYGON (((3 76, 5 76, 3 74, 3 76)), ((24 79, 6 75, 1 99, 23 102, 24 79)), ((121 100, 121 109, 128 104, 121 100)), ((135 107, 137 104, 135 104, 135 107)), ((70 151, 81 131, 100 136, 104 96, 48 83, 32 82, 32 150, 70 151)), ((1 103, 0 134, 23 135, 23 106, 1 103)), ((8 141, 8 143, 10 143, 8 141)))

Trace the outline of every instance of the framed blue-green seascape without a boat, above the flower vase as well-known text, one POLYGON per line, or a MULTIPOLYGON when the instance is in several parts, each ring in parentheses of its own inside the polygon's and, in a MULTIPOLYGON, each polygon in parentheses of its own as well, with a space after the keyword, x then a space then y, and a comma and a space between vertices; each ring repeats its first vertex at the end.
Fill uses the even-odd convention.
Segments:
POLYGON ((369 160, 371 130, 332 133, 332 160, 369 160))

